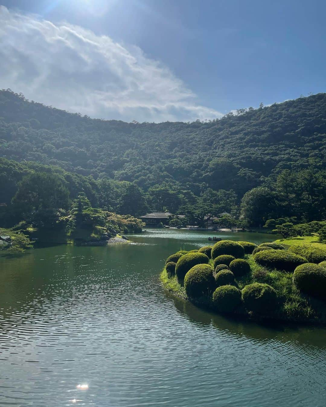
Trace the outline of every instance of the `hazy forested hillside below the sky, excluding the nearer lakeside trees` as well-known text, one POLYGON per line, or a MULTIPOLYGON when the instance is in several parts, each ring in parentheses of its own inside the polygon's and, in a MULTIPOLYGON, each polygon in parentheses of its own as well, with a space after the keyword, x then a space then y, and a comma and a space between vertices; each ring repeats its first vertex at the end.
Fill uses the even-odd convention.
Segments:
POLYGON ((282 169, 326 168, 326 94, 240 109, 220 120, 124 123, 91 119, 0 92, 0 155, 66 171, 136 182, 167 182, 199 195, 238 197, 282 169))

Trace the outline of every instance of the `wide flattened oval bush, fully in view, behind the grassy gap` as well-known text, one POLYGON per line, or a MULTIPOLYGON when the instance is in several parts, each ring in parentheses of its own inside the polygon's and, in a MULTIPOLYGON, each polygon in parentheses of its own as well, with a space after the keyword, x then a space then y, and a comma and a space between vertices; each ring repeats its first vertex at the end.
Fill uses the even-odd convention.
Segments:
POLYGON ((293 271, 300 264, 307 263, 307 260, 298 254, 290 253, 288 250, 263 250, 254 254, 253 260, 268 269, 278 269, 293 271))

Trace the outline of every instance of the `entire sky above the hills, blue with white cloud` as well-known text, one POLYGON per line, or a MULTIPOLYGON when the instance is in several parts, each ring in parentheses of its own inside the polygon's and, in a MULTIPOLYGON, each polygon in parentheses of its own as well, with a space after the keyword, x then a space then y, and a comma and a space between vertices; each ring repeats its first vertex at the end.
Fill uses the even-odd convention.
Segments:
POLYGON ((203 120, 326 91, 324 1, 0 4, 0 87, 91 117, 203 120))

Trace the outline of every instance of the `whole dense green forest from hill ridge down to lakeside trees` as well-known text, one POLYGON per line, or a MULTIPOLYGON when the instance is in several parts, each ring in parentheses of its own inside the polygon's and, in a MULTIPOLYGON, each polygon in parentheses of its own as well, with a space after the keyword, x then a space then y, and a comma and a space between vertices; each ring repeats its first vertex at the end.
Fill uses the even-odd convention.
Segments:
POLYGON ((326 94, 204 122, 124 123, 2 90, 0 225, 36 213, 22 207, 41 182, 35 173, 53 175, 58 191, 67 191, 56 210, 71 210, 82 195, 93 208, 135 217, 169 210, 198 224, 222 211, 253 226, 324 220, 325 135, 326 94))

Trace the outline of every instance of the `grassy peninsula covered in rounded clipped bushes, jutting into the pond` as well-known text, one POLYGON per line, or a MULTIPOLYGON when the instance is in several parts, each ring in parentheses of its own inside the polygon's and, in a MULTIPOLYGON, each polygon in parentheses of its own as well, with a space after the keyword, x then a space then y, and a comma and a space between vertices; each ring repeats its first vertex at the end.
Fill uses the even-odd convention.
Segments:
POLYGON ((167 290, 218 313, 326 324, 322 246, 220 241, 210 250, 172 254, 161 281, 167 290))

